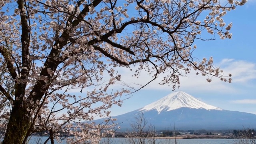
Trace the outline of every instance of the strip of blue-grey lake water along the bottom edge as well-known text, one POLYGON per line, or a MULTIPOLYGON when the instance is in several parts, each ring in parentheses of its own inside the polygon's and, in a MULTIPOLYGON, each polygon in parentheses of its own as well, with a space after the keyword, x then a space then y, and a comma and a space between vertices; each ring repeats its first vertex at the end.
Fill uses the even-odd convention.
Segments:
MULTIPOLYGON (((42 137, 38 142, 38 137, 32 136, 29 144, 43 144, 48 137, 42 137)), ((178 139, 176 144, 235 144, 232 139, 178 139)), ((56 142, 57 143, 57 142, 56 142)), ((50 141, 48 142, 50 144, 50 141)), ((66 144, 62 142, 61 144, 66 144)), ((100 144, 131 144, 128 138, 103 138, 100 144)), ((157 139, 156 144, 175 144, 172 139, 157 139)))

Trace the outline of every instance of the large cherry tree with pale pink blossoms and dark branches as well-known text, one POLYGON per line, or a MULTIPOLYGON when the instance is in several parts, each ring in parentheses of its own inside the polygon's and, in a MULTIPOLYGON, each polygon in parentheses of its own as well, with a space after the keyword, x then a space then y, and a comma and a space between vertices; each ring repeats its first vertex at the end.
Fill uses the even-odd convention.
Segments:
POLYGON ((25 144, 36 132, 47 141, 70 134, 67 143, 97 143, 111 133, 109 117, 130 88, 116 67, 139 77, 142 70, 173 89, 190 70, 231 82, 231 74, 198 60, 195 40, 231 38, 223 16, 246 0, 1 0, 0 126, 3 144, 25 144), (204 38, 206 35, 207 38, 204 38), (78 89, 81 95, 70 93, 78 89))

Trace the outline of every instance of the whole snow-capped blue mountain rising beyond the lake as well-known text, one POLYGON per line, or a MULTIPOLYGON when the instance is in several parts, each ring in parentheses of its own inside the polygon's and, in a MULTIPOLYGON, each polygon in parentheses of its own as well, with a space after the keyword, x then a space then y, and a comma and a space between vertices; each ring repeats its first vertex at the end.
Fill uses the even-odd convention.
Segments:
MULTIPOLYGON (((206 104, 185 92, 173 92, 160 100, 132 112, 114 116, 121 130, 130 128, 136 114, 144 118, 157 130, 175 128, 179 130, 233 130, 256 128, 256 115, 246 112, 222 110, 206 104)), ((102 119, 95 120, 102 122, 102 119)))

